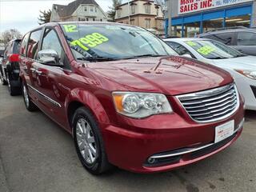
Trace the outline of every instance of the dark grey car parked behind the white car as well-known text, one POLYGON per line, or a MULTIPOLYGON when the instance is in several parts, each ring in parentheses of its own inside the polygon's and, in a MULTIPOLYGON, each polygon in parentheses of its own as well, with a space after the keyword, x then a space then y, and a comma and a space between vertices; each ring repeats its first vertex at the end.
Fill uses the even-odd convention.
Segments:
POLYGON ((253 28, 233 27, 223 30, 210 30, 205 34, 199 34, 198 37, 214 39, 243 54, 256 56, 256 29, 253 28))

